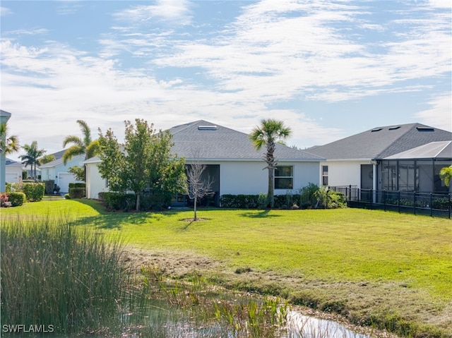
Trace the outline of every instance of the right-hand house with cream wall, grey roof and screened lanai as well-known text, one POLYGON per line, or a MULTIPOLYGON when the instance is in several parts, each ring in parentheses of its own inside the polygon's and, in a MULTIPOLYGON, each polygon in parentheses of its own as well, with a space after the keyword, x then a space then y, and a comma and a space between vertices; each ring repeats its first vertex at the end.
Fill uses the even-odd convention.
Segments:
POLYGON ((443 193, 447 188, 438 174, 452 164, 451 140, 449 131, 410 123, 373 128, 307 151, 326 158, 321 165, 326 186, 443 193), (431 151, 422 154, 422 149, 431 151))

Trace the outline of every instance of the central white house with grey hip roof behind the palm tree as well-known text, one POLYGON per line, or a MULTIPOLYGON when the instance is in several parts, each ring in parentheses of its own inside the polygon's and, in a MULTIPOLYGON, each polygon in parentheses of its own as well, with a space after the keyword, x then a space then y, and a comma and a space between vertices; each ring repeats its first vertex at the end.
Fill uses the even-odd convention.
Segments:
MULTIPOLYGON (((267 193, 268 170, 263 161, 265 148, 256 151, 246 133, 215 125, 208 121, 194 121, 169 129, 172 134, 172 153, 184 157, 186 164, 207 164, 206 174, 213 179, 215 204, 220 195, 267 193)), ((275 195, 298 193, 309 183, 319 184, 319 165, 324 159, 309 152, 285 145, 276 145, 275 195)), ((85 161, 87 169, 87 197, 98 198, 108 191, 107 181, 97 169, 98 157, 85 161)), ((186 203, 184 196, 175 196, 173 204, 186 203)))

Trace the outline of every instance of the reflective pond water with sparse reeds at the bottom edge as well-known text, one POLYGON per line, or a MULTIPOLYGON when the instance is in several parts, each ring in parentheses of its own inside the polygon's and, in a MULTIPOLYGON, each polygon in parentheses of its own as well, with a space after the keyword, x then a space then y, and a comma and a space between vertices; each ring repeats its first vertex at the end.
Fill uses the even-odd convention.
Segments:
POLYGON ((195 304, 191 301, 175 306, 167 299, 153 299, 143 308, 124 313, 117 337, 370 338, 333 320, 291 310, 278 300, 209 292, 195 304))

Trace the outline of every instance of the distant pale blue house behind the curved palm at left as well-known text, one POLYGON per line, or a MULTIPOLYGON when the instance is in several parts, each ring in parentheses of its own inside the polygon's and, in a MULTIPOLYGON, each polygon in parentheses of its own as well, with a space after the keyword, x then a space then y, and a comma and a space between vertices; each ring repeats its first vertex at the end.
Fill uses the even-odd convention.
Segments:
POLYGON ((81 182, 71 174, 68 169, 70 167, 82 167, 85 160, 85 155, 74 156, 66 164, 63 163, 63 159, 55 159, 52 162, 43 164, 41 166, 41 180, 49 181, 54 180, 55 184, 60 187, 60 193, 69 192, 69 183, 81 182))

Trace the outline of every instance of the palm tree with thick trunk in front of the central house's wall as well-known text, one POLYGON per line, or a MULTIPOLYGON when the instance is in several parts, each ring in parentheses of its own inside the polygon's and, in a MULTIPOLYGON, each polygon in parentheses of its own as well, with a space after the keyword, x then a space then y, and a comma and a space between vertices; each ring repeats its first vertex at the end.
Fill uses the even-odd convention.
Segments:
POLYGON ((268 199, 270 200, 270 207, 275 203, 274 198, 274 178, 275 178, 275 144, 278 140, 285 139, 290 136, 292 131, 289 127, 284 125, 283 121, 275 119, 263 119, 261 125, 256 126, 249 135, 249 139, 253 143, 256 150, 261 150, 266 146, 266 153, 264 160, 267 163, 268 169, 268 199))

